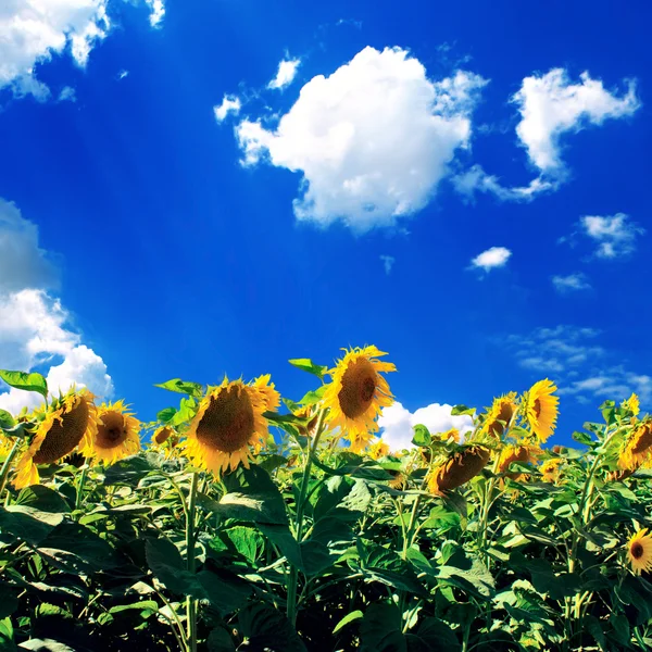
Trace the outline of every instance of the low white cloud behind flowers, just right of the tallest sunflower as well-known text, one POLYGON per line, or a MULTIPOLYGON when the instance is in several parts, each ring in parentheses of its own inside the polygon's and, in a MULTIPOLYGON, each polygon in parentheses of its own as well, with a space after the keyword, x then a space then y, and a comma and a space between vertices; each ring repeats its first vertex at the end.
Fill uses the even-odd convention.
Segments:
POLYGON ((473 419, 468 415, 451 416, 452 405, 431 403, 410 412, 399 402, 384 408, 378 418, 380 437, 391 451, 412 448, 413 427, 423 424, 432 435, 457 428, 462 435, 473 429, 473 419))

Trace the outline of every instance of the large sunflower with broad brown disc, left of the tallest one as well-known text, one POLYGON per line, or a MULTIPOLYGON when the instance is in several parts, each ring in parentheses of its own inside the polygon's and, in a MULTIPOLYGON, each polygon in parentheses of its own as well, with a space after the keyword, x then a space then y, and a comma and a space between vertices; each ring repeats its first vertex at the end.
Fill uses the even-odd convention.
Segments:
POLYGON ((190 423, 185 442, 188 456, 202 468, 220 473, 240 462, 249 468, 249 447, 260 449, 267 438, 263 392, 241 380, 224 379, 210 388, 190 423))

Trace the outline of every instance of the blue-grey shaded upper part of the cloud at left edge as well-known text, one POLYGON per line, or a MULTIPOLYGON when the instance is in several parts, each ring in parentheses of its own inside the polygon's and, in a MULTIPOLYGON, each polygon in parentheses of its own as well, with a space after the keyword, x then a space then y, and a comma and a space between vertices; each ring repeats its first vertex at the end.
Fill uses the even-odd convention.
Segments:
POLYGON ((38 246, 38 227, 0 198, 0 294, 25 287, 52 288, 59 274, 38 246))

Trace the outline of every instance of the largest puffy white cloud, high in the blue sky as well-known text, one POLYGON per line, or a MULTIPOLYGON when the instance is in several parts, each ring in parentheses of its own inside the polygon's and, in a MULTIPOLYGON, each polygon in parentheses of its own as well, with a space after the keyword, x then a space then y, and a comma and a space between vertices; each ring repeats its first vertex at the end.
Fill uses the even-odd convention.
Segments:
POLYGON ((276 128, 242 121, 242 163, 265 159, 301 172, 294 215, 359 233, 426 206, 468 145, 469 114, 487 82, 457 71, 432 82, 400 48, 365 48, 329 77, 303 86, 276 128))

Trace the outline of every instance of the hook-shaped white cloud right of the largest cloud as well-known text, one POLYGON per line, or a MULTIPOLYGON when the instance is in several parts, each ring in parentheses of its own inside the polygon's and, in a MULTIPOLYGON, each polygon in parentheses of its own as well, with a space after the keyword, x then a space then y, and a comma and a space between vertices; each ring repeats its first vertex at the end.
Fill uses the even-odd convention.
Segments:
POLYGON ((526 77, 512 98, 518 104, 521 122, 516 134, 530 161, 543 173, 562 175, 561 137, 588 125, 601 125, 607 118, 631 115, 639 109, 634 80, 627 82, 622 97, 604 88, 588 72, 573 84, 564 68, 542 76, 526 77))

